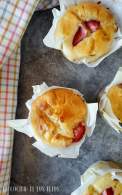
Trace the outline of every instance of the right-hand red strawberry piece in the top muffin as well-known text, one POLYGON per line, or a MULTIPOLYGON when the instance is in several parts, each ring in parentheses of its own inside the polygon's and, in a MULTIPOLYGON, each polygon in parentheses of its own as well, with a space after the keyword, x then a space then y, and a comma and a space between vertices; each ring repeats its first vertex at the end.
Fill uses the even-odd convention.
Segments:
POLYGON ((100 22, 96 20, 86 21, 85 25, 91 32, 95 32, 100 27, 100 22))

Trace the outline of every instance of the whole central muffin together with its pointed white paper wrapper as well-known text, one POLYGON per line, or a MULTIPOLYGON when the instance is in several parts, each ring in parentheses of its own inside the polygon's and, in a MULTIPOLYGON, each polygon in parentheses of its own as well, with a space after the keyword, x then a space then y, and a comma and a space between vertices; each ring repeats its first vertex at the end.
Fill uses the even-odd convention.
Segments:
POLYGON ((98 103, 86 103, 72 88, 35 85, 26 107, 26 119, 7 124, 34 138, 32 145, 50 157, 77 158, 85 138, 95 129, 98 103))

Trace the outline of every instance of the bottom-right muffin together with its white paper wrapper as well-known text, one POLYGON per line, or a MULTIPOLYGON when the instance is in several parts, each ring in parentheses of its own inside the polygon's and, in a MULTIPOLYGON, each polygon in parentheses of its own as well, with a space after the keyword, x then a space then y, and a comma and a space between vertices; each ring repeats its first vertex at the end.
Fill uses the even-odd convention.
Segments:
POLYGON ((100 161, 81 176, 81 186, 72 195, 121 195, 122 170, 113 162, 100 161))

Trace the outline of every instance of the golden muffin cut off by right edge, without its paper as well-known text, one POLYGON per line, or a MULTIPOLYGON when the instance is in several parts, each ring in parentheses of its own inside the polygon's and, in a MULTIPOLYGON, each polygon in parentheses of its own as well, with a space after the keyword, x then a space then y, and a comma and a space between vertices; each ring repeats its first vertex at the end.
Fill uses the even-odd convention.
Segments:
POLYGON ((112 111, 122 123, 122 83, 112 86, 107 93, 112 111))

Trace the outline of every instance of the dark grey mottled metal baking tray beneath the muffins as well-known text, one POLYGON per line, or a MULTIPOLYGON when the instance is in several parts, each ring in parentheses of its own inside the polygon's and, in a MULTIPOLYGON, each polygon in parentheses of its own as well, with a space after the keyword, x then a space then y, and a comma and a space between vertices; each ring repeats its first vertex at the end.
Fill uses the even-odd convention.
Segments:
MULTIPOLYGON (((35 12, 21 45, 21 68, 16 118, 27 118, 25 102, 32 85, 45 81, 80 90, 87 102, 96 102, 101 89, 122 65, 122 49, 106 58, 97 68, 76 65, 61 52, 47 48, 43 38, 52 24, 51 10, 35 12)), ((26 192, 10 195, 70 195, 80 185, 82 174, 98 160, 122 162, 122 134, 116 133, 98 114, 92 137, 80 148, 77 159, 50 158, 32 146, 33 139, 15 132, 11 186, 26 186, 26 192)))

